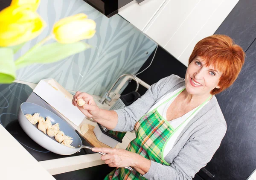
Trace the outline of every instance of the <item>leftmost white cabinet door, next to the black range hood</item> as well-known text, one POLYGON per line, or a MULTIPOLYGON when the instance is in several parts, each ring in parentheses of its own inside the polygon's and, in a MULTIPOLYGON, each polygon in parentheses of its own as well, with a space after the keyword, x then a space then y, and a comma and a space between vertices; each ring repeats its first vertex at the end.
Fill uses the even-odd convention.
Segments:
POLYGON ((165 1, 166 0, 149 0, 141 6, 138 3, 133 3, 131 6, 118 12, 118 14, 143 31, 165 1))

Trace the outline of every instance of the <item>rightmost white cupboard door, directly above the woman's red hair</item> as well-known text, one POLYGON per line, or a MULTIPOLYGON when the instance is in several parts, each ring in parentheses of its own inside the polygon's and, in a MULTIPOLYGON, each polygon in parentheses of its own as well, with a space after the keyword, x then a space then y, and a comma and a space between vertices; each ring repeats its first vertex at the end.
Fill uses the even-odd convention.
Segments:
MULTIPOLYGON (((218 9, 221 9, 224 6, 223 3, 227 1, 230 0, 201 0, 179 27, 175 35, 169 39, 164 49, 187 66, 189 55, 187 54, 188 57, 183 57, 182 60, 180 60, 180 56, 186 51, 186 48, 199 33, 212 35, 221 25, 224 18, 227 17, 232 9, 224 8, 222 9, 224 12, 221 12, 221 15, 218 16, 216 16, 215 12, 218 12, 218 9), (221 22, 218 20, 219 16, 224 17, 221 22)), ((227 4, 228 6, 232 5, 231 7, 234 7, 232 3, 227 2, 227 4)), ((199 40, 197 39, 196 41, 199 40)))

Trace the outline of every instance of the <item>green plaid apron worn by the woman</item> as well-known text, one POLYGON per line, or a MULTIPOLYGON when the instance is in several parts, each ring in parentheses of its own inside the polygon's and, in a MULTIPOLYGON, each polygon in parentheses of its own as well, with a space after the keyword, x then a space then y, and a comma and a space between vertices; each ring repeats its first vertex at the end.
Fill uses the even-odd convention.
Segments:
MULTIPOLYGON (((185 90, 185 88, 183 89, 185 90)), ((175 95, 167 99, 161 105, 169 102, 173 97, 177 96, 183 90, 180 90, 175 95)), ((192 116, 200 107, 202 107, 209 98, 201 104, 190 116, 192 116)), ((159 106, 161 106, 159 105, 159 106)), ((159 107, 157 106, 157 108, 159 107)), ((130 142, 127 151, 131 151, 141 156, 147 158, 148 160, 155 161, 157 163, 169 165, 164 160, 163 150, 168 140, 172 135, 189 119, 189 117, 176 129, 172 128, 169 122, 164 119, 160 113, 158 113, 157 108, 145 114, 140 120, 135 124, 134 130, 136 138, 130 142)), ((108 174, 104 180, 145 180, 135 169, 134 171, 129 171, 125 168, 115 168, 110 174, 108 174)))

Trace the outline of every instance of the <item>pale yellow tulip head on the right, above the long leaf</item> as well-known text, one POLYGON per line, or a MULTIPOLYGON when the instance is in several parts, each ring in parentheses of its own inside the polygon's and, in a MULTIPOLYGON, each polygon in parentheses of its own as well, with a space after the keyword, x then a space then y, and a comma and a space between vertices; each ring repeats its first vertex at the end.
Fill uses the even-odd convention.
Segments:
POLYGON ((80 13, 59 20, 53 26, 56 41, 67 44, 83 39, 92 38, 95 34, 96 23, 87 19, 87 15, 80 13))

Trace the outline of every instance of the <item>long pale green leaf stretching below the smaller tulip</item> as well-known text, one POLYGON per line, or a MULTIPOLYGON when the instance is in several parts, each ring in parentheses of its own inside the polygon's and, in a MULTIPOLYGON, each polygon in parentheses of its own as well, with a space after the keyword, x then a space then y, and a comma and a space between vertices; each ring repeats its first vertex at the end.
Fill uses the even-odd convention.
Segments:
POLYGON ((26 56, 17 59, 15 65, 17 69, 19 69, 34 63, 52 63, 84 51, 90 47, 92 46, 81 41, 71 44, 55 42, 44 46, 38 46, 26 54, 26 56))

